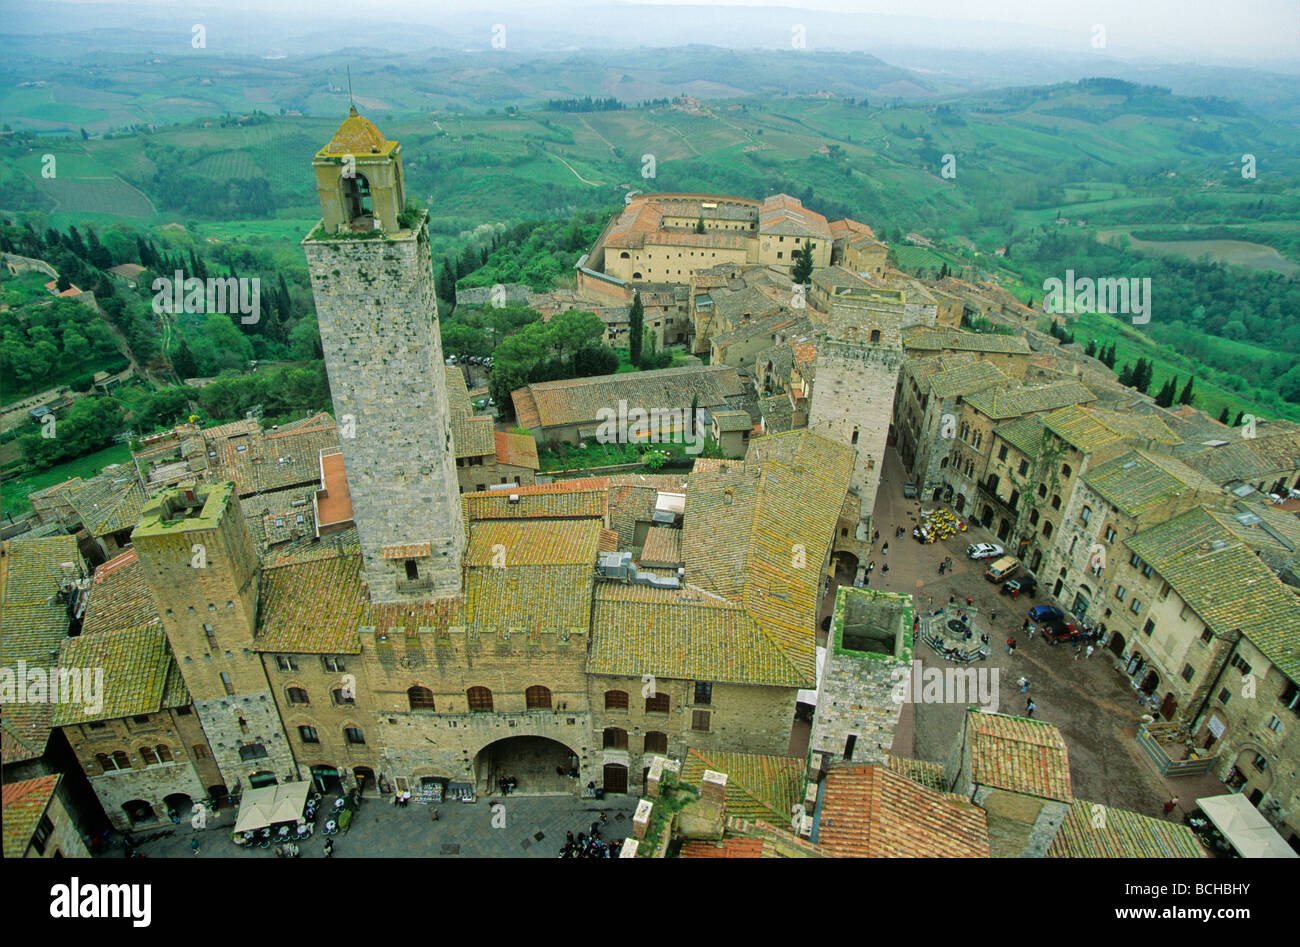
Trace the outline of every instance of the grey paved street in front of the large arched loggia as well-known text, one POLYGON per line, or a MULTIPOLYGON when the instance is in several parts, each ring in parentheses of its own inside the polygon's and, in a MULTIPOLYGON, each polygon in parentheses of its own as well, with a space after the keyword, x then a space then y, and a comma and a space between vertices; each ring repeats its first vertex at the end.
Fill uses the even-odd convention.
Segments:
MULTIPOLYGON (((326 805, 333 796, 326 796, 326 805)), ((368 797, 352 818, 346 835, 334 838, 335 859, 555 859, 564 844, 564 833, 589 833, 592 822, 606 813, 608 822, 601 829, 604 840, 621 840, 632 834, 636 796, 612 796, 604 800, 575 796, 493 796, 477 803, 442 803, 438 821, 429 817, 428 805, 415 803, 394 808, 389 797, 368 797), (504 807, 504 826, 493 827, 493 804, 504 807), (541 838, 538 838, 541 835, 541 838)), ((268 849, 240 848, 230 840, 234 810, 225 809, 204 831, 187 825, 165 838, 146 842, 138 851, 150 859, 274 859, 268 849), (190 852, 190 840, 199 839, 199 855, 190 852)), ((498 820, 499 821, 499 820, 498 820)), ((302 857, 322 857, 325 844, 320 835, 324 820, 317 820, 316 835, 299 844, 302 857)), ((170 826, 169 826, 170 827, 170 826)), ((162 827, 159 829, 161 831, 162 827)), ((148 830, 136 833, 148 835, 148 830)), ((120 848, 114 852, 121 853, 120 848)))

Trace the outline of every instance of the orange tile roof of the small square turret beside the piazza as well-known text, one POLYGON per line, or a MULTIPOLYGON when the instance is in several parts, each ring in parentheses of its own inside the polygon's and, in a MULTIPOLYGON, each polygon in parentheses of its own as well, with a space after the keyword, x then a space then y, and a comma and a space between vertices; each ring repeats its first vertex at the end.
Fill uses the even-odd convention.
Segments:
POLYGON ((966 728, 971 778, 978 786, 1074 801, 1070 753, 1054 726, 1024 717, 970 710, 966 728))

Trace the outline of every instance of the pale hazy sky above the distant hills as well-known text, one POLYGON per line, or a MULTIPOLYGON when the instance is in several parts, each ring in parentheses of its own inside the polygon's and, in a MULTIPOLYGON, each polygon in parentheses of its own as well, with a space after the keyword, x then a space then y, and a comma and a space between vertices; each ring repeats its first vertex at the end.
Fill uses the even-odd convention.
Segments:
MULTIPOLYGON (((53 3, 53 0, 51 0, 53 3)), ((84 3, 84 0, 81 0, 84 3)), ((121 0, 96 0, 121 3, 121 0)), ((1052 46, 1052 36, 1091 34, 1093 25, 1106 30, 1108 47, 1117 55, 1160 51, 1165 57, 1186 59, 1295 59, 1300 64, 1300 0, 785 0, 754 3, 753 0, 221 0, 221 9, 257 9, 277 13, 339 18, 365 17, 370 21, 404 21, 437 26, 441 22, 463 23, 469 17, 485 20, 495 13, 512 10, 530 20, 546 17, 563 26, 567 16, 582 20, 584 7, 603 7, 606 12, 627 4, 662 7, 728 7, 762 8, 768 16, 801 10, 822 13, 864 14, 858 21, 870 25, 870 16, 975 21, 1014 25, 1009 34, 1023 40, 1023 27, 1041 31, 1052 46)), ((139 7, 172 10, 204 9, 203 3, 177 4, 177 0, 138 0, 139 7)), ((673 17, 670 10, 666 20, 673 17)), ((680 16, 680 14, 679 14, 680 16)), ((742 16, 737 10, 737 16, 742 16)), ((815 14, 814 14, 815 16, 815 14)), ((663 23, 660 23, 662 26, 663 23)), ((914 42, 926 44, 927 29, 916 23, 914 42)), ((883 30, 888 39, 900 36, 897 25, 883 30)), ((634 35, 634 34, 633 34, 634 35)), ((982 34, 975 34, 982 35, 982 34)), ((907 40, 913 36, 906 35, 907 40)), ((727 38, 697 39, 727 44, 727 38)), ((980 39, 979 42, 983 42, 980 39)))

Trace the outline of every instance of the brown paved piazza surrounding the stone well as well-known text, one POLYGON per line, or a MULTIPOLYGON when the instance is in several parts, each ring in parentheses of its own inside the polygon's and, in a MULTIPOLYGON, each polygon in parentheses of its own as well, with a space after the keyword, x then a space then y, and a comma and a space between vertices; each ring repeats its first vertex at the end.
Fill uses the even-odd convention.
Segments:
MULTIPOLYGON (((953 594, 963 604, 967 597, 974 600, 979 609, 975 630, 976 634, 988 632, 989 658, 957 666, 996 669, 998 709, 1002 713, 1023 714, 1028 696, 1037 705, 1034 715, 1061 728, 1070 752, 1075 797, 1160 816, 1162 804, 1171 795, 1178 795, 1182 808, 1187 809, 1195 796, 1227 791, 1213 778, 1195 780, 1195 786, 1186 779, 1165 779, 1141 756, 1135 736, 1143 709, 1109 650, 1097 649, 1091 658, 1080 654, 1075 660, 1071 644, 1049 645, 1041 636, 1035 636, 1032 641, 1026 639, 1020 624, 1030 607, 1060 602, 1048 594, 1049 583, 1043 583, 1037 594, 1028 600, 1020 596, 1013 602, 1010 597, 998 594, 998 587, 984 578, 985 563, 966 558, 967 545, 996 542, 996 536, 971 526, 967 532, 932 545, 911 539, 911 527, 919 519, 923 502, 904 498, 904 480, 902 463, 889 449, 876 498, 880 541, 874 546, 876 568, 870 587, 910 592, 918 610, 942 607, 953 594), (898 526, 906 527, 906 535, 893 539, 898 526), (889 540, 888 554, 881 552, 885 540, 889 540), (939 563, 945 555, 952 557, 953 570, 940 576, 939 563), (887 575, 880 572, 884 562, 889 563, 887 575), (1006 653, 1008 637, 1017 640, 1014 656, 1006 653), (1020 693, 1015 683, 1020 676, 1030 679, 1027 695, 1020 693)), ((922 643, 918 643, 914 657, 923 667, 954 666, 922 643)), ((906 726, 900 727, 894 752, 942 762, 970 702, 975 701, 905 706, 906 726)))

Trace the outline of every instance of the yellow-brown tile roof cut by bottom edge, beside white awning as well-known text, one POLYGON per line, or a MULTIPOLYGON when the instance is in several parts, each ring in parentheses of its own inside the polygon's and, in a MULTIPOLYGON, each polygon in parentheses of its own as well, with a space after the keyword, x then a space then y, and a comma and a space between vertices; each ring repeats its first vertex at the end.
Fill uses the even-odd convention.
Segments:
POLYGON ((1205 859, 1184 825, 1075 800, 1048 846, 1049 859, 1205 859))

